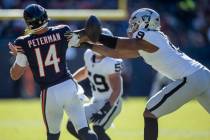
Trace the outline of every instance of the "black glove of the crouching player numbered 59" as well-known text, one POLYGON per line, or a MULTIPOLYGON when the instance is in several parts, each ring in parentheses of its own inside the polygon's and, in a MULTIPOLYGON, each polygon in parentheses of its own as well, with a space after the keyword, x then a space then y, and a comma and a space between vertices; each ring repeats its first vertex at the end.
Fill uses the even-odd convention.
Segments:
POLYGON ((110 105, 109 102, 106 102, 104 104, 104 106, 97 112, 94 113, 93 116, 90 118, 90 120, 95 123, 97 121, 101 121, 106 114, 110 111, 110 109, 112 108, 112 106, 110 105))

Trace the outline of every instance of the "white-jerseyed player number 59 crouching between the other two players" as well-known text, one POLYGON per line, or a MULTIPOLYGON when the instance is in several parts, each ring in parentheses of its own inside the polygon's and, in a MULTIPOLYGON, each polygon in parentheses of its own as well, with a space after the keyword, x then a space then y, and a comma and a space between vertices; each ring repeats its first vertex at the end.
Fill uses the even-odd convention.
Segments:
MULTIPOLYGON (((103 28, 102 32, 113 36, 111 31, 103 28)), ((73 77, 78 82, 88 78, 91 85, 92 98, 84 104, 89 123, 99 140, 110 140, 106 130, 121 111, 123 84, 121 77, 121 59, 106 57, 90 49, 84 53, 85 65, 78 69, 73 77)), ((68 131, 77 137, 71 121, 67 124, 68 131)))

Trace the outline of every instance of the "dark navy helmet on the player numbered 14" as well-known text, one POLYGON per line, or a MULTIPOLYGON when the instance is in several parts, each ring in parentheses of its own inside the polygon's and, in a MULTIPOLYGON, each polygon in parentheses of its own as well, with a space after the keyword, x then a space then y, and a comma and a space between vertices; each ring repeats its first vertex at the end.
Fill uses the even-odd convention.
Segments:
POLYGON ((38 4, 28 5, 24 9, 23 17, 29 30, 36 30, 47 26, 49 20, 45 8, 38 4))

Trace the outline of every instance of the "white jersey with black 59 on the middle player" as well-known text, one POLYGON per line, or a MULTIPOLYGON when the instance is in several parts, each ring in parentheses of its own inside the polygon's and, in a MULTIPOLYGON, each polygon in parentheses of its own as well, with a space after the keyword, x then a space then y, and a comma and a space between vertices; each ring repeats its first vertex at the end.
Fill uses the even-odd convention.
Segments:
MULTIPOLYGON (((112 88, 108 76, 121 72, 121 59, 105 57, 96 61, 95 54, 88 49, 84 54, 85 66, 88 70, 88 79, 91 84, 92 96, 95 99, 108 99, 112 94, 112 88)), ((121 78, 122 87, 122 78, 121 78)), ((122 94, 121 89, 121 94, 122 94)))

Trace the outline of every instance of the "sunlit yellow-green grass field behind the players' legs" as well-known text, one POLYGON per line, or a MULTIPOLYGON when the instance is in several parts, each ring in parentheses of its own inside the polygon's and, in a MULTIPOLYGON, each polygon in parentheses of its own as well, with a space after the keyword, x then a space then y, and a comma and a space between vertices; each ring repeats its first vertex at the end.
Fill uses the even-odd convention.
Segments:
MULTIPOLYGON (((113 140, 143 140, 145 100, 128 98, 108 133, 113 140)), ((75 140, 62 123, 61 140, 75 140)), ((210 140, 210 115, 192 101, 159 121, 159 140, 210 140)), ((45 140, 39 100, 0 100, 0 140, 45 140)))

